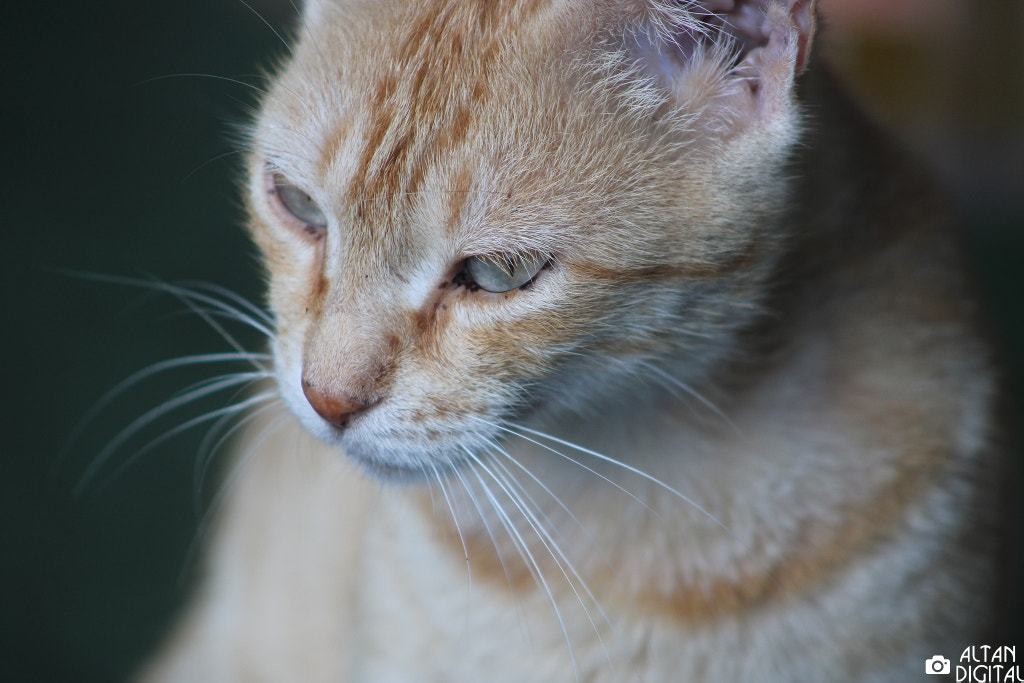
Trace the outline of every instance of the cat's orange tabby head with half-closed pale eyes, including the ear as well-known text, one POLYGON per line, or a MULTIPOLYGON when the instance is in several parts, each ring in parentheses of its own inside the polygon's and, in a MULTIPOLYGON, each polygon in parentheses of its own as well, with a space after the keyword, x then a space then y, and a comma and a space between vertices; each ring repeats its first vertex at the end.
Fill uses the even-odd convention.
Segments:
POLYGON ((402 473, 699 383, 778 251, 813 4, 311 0, 249 165, 292 411, 402 473))

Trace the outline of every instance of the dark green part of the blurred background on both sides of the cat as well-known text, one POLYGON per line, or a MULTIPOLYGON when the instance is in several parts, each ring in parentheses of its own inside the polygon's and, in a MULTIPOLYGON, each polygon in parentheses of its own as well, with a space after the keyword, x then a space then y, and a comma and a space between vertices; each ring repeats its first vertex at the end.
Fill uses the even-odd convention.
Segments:
MULTIPOLYGON (((287 26, 286 11, 263 11, 287 26)), ((122 427, 204 371, 128 392, 59 463, 57 453, 132 372, 226 348, 195 316, 174 314, 182 306, 169 297, 57 269, 206 280, 258 299, 229 141, 253 93, 177 75, 258 84, 284 48, 238 0, 8 3, 3 25, 0 679, 120 680, 184 593, 197 502, 209 496, 193 484, 202 434, 100 477, 84 497, 72 488, 122 427)), ((1009 189, 954 189, 1021 387, 1024 184, 1000 181, 1009 189)))

